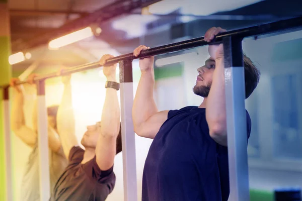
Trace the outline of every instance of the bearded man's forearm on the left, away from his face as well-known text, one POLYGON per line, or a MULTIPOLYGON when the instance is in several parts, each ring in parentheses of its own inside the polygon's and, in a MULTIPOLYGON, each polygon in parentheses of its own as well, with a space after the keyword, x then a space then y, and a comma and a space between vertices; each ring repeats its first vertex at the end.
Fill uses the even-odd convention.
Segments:
POLYGON ((154 100, 154 69, 141 73, 132 108, 134 130, 158 112, 154 100))

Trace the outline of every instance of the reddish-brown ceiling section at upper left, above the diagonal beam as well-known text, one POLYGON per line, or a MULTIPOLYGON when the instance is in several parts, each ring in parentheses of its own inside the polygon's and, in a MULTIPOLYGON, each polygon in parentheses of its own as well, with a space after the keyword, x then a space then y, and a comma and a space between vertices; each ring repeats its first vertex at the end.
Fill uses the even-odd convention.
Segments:
POLYGON ((114 0, 10 0, 12 43, 51 32, 113 2, 114 0))

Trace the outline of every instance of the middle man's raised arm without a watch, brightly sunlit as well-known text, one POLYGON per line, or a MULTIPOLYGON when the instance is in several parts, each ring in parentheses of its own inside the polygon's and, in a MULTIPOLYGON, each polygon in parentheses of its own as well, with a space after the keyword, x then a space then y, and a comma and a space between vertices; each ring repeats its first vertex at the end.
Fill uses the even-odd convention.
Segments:
POLYGON ((64 91, 57 113, 57 130, 60 136, 64 154, 66 158, 68 158, 70 149, 79 143, 77 137, 75 136, 70 75, 63 76, 62 82, 64 84, 64 91))

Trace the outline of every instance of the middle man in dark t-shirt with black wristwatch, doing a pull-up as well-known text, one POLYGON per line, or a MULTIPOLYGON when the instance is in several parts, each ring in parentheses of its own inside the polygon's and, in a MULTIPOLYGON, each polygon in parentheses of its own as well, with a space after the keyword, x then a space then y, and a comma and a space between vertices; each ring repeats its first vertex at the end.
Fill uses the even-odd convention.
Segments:
MULTIPOLYGON (((111 55, 104 55, 104 65, 111 55)), ((71 87, 64 88, 58 110, 57 128, 68 166, 58 179, 50 200, 99 200, 106 199, 115 185, 114 157, 121 151, 120 107, 117 97, 116 65, 104 66, 107 78, 106 95, 101 122, 87 126, 82 149, 75 137, 74 118, 71 110, 71 87)), ((96 91, 97 92, 97 91, 96 91)))

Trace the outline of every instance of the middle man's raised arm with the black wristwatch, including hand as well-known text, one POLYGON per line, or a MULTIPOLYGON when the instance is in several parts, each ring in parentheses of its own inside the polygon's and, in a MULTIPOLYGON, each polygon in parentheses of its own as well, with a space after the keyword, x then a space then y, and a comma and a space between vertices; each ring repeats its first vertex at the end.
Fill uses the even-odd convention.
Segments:
MULTIPOLYGON (((104 65, 111 55, 104 55, 100 64, 104 65)), ((116 64, 104 66, 103 73, 108 82, 116 82, 116 64)), ((105 102, 100 123, 100 134, 96 147, 96 160, 101 170, 108 170, 113 166, 116 154, 116 139, 120 130, 120 107, 117 89, 107 87, 105 102)))

